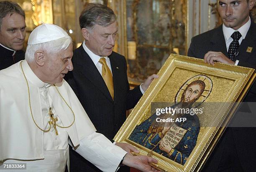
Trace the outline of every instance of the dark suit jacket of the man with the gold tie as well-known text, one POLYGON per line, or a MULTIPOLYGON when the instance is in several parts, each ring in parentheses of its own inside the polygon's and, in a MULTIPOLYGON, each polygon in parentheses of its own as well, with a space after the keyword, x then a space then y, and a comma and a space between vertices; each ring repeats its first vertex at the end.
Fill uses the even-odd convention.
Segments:
MULTIPOLYGON (((97 132, 112 140, 126 119, 126 110, 133 108, 137 104, 142 93, 139 87, 130 90, 125 57, 113 52, 109 58, 113 73, 114 101, 100 72, 84 51, 82 45, 74 50, 72 59, 74 70, 67 75, 65 80, 76 93, 97 132)), ((79 156, 77 155, 77 157, 79 156)), ((76 171, 79 171, 79 169, 81 171, 85 170, 82 167, 85 160, 82 159, 82 157, 77 158, 75 161, 71 159, 71 169, 72 163, 75 163, 77 164, 76 171)), ((90 166, 93 167, 92 165, 90 166)), ((91 172, 96 171, 96 168, 94 170, 86 168, 86 170, 91 172)))

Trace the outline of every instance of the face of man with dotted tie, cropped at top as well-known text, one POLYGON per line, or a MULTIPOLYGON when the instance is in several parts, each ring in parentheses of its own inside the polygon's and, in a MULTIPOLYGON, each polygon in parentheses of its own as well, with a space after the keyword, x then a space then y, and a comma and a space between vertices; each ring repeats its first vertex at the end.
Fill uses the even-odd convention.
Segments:
POLYGON ((218 0, 218 12, 226 27, 238 30, 249 20, 254 0, 218 0))

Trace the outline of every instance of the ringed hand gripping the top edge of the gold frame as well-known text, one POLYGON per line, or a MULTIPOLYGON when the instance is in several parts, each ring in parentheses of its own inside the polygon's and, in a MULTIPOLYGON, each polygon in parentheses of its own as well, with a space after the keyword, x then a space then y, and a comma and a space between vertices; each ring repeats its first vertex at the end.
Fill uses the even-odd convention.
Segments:
POLYGON ((216 51, 208 51, 204 56, 204 61, 205 63, 208 63, 210 65, 214 65, 214 61, 235 65, 235 62, 233 60, 230 60, 222 52, 216 52, 216 51))

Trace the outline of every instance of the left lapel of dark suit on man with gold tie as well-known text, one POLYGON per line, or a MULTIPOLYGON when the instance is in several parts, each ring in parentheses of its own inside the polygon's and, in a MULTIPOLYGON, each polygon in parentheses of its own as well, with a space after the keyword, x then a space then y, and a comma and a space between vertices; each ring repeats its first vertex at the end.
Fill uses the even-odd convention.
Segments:
POLYGON ((108 100, 113 102, 110 92, 108 91, 108 87, 100 75, 100 72, 97 70, 97 67, 92 62, 92 59, 84 51, 82 45, 79 47, 79 49, 80 57, 82 57, 78 64, 80 72, 82 72, 84 77, 90 80, 95 85, 95 87, 97 87, 102 92, 102 94, 108 98, 108 100))

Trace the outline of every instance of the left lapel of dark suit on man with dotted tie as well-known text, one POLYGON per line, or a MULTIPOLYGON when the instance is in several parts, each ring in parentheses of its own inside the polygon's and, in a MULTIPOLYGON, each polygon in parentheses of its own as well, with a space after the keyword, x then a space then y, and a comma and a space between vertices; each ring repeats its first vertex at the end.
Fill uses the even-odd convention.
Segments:
POLYGON ((225 43, 225 38, 223 35, 222 25, 220 25, 216 32, 212 35, 210 40, 212 42, 212 51, 220 51, 223 52, 225 56, 228 57, 227 47, 225 43))

